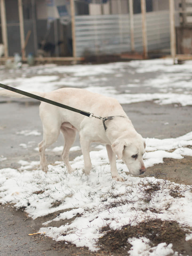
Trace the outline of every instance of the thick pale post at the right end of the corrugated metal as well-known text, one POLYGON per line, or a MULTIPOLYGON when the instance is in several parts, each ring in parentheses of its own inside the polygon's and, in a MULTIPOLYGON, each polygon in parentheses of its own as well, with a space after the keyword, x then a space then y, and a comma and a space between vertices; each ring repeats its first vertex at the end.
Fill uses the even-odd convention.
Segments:
POLYGON ((176 42, 175 42, 175 6, 174 0, 169 0, 169 19, 170 19, 170 47, 173 64, 175 64, 176 42))

